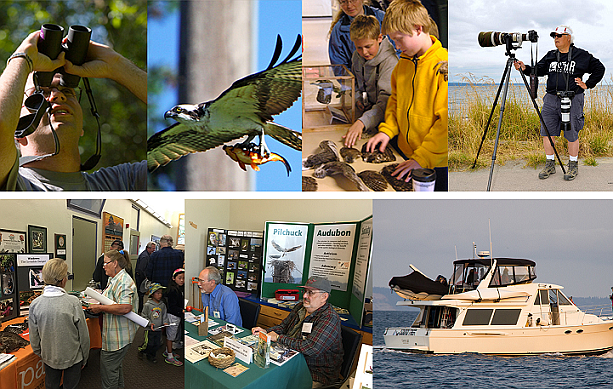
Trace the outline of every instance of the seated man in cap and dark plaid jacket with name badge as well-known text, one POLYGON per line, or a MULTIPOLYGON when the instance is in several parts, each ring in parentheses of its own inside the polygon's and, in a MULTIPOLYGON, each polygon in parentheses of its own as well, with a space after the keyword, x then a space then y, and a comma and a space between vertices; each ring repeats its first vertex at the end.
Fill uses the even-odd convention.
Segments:
MULTIPOLYGON (((296 304, 281 324, 269 328, 268 334, 272 341, 304 355, 316 388, 334 382, 340 374, 341 319, 328 303, 332 291, 330 281, 311 277, 301 288, 304 288, 302 302, 296 304)), ((251 331, 264 330, 254 327, 251 331)))

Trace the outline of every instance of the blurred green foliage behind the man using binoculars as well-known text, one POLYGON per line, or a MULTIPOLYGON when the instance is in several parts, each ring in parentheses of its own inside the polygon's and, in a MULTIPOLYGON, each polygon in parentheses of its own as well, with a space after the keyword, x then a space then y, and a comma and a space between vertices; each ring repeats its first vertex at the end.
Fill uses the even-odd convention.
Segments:
MULTIPOLYGON (((92 40, 147 70, 146 0, 0 1, 0 66, 19 44, 45 23, 92 29, 92 40)), ((102 159, 95 169, 141 161, 147 152, 147 106, 126 88, 107 79, 91 79, 102 130, 102 159)), ((82 86, 82 84, 80 84, 82 86)), ((97 124, 83 93, 85 135, 79 143, 85 162, 95 151, 97 124)))

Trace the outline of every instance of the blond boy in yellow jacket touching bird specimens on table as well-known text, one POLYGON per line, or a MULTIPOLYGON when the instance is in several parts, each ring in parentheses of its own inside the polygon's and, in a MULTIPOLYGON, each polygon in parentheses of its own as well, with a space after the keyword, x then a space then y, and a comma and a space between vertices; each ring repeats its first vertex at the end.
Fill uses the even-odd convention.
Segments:
POLYGON ((447 190, 447 80, 441 67, 447 50, 429 34, 430 17, 419 0, 394 0, 385 12, 381 31, 402 51, 392 72, 392 94, 385 121, 367 150, 385 147, 391 139, 406 161, 392 173, 410 180, 410 171, 436 171, 435 190, 447 190))

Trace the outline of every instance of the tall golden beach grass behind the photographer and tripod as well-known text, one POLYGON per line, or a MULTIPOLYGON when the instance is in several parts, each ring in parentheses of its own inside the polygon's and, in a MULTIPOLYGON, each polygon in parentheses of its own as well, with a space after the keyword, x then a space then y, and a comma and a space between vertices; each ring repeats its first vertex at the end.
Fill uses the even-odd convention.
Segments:
MULTIPOLYGON (((611 80, 613 81, 613 80, 611 80)), ((464 77, 465 90, 461 104, 455 104, 449 111, 449 168, 452 171, 470 169, 475 161, 479 144, 490 116, 498 83, 491 79, 464 77)), ((542 106, 545 81, 541 79, 537 103, 542 106)), ((599 84, 586 91, 585 124, 579 132, 579 158, 584 164, 594 164, 596 157, 613 157, 613 82, 599 84)), ((488 131, 479 154, 476 167, 487 167, 491 163, 496 130, 502 103, 502 93, 491 117, 488 131)), ((544 165, 543 140, 539 134, 540 121, 527 90, 510 87, 506 99, 496 163, 525 161, 526 167, 537 169, 544 165)), ((554 137, 558 154, 567 159, 567 141, 554 137)))

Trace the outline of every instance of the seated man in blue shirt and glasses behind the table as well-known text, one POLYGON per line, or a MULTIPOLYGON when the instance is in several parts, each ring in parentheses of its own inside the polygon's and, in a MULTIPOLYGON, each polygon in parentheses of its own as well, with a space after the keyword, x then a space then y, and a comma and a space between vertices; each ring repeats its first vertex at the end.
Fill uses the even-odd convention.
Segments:
POLYGON ((221 284, 221 274, 215 266, 205 267, 198 276, 202 292, 202 306, 209 307, 209 315, 237 326, 243 326, 243 318, 236 293, 221 284))

